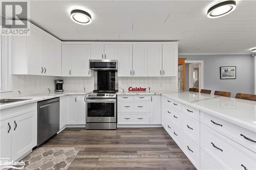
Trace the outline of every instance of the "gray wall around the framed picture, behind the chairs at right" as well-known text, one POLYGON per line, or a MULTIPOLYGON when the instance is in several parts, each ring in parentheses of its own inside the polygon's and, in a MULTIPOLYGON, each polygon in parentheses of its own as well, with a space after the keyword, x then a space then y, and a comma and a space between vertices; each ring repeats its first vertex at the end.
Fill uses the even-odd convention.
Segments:
POLYGON ((215 90, 230 91, 232 97, 238 92, 254 94, 254 57, 250 55, 179 55, 179 57, 204 61, 204 88, 210 89, 212 94, 215 90), (237 66, 237 79, 220 79, 220 66, 237 66))

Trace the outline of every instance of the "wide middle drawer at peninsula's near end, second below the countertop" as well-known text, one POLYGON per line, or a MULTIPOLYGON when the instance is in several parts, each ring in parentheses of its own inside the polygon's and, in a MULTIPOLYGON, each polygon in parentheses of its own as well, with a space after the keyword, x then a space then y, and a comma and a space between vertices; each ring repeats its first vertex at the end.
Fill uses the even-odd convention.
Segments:
POLYGON ((256 169, 256 154, 237 142, 203 124, 200 137, 201 149, 227 169, 256 169))

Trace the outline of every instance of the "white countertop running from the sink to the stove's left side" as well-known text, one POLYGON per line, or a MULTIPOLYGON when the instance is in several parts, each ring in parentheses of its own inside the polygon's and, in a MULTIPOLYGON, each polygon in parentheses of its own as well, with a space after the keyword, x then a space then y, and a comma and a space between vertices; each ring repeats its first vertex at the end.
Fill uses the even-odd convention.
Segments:
POLYGON ((20 105, 26 105, 29 103, 44 101, 44 100, 48 100, 48 99, 58 98, 58 97, 64 96, 64 95, 86 95, 87 93, 88 92, 84 92, 84 91, 65 91, 63 93, 53 92, 50 94, 49 93, 48 94, 31 94, 31 95, 26 95, 26 96, 21 96, 21 97, 16 97, 16 98, 10 98, 10 99, 30 99, 30 100, 2 104, 2 105, 0 105, 0 110, 15 107, 15 106, 20 106, 20 105))

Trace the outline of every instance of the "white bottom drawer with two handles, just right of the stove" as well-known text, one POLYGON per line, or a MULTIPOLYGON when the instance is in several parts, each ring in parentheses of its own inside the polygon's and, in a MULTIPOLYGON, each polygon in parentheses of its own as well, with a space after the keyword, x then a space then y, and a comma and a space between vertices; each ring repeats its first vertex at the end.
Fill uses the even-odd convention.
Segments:
POLYGON ((119 125, 141 125, 149 124, 150 119, 148 113, 134 114, 134 113, 118 113, 117 123, 119 125))

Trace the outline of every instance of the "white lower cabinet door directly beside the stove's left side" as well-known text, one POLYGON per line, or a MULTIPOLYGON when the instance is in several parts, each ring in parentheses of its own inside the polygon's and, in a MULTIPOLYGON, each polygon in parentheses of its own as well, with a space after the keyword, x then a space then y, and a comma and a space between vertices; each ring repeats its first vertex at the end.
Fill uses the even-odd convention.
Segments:
POLYGON ((77 96, 77 124, 86 124, 86 96, 77 96))

